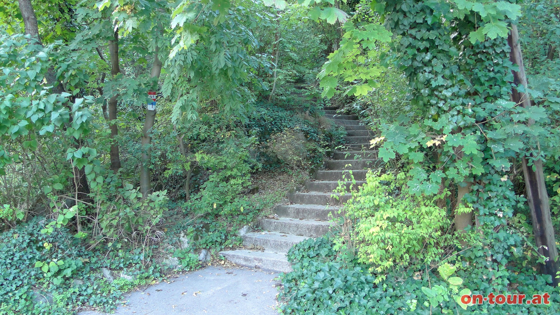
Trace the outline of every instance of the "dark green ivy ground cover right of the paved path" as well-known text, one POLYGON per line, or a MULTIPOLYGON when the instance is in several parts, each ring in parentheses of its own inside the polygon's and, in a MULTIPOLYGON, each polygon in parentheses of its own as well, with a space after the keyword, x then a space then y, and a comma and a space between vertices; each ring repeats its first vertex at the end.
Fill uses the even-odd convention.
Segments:
MULTIPOLYGON (((516 244, 517 245, 517 244, 516 244)), ((444 263, 437 274, 432 269, 394 268, 376 284, 377 276, 367 265, 337 255, 326 238, 308 239, 288 252, 293 271, 283 275, 279 295, 284 314, 555 314, 560 300, 540 275, 508 272, 516 289, 496 286, 491 277, 472 275, 473 269, 444 263), (549 292, 549 305, 464 305, 460 295, 500 292, 532 296, 549 292), (465 309, 466 308, 466 309, 465 309)), ((470 254, 469 254, 470 255, 470 254)), ((480 257, 486 259, 486 257, 480 257)))

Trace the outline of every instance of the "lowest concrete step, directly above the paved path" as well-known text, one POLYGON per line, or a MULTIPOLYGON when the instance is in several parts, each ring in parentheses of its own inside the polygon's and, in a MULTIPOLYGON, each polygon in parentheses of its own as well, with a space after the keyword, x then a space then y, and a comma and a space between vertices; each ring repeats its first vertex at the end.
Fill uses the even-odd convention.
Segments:
POLYGON ((292 265, 288 262, 286 254, 274 252, 255 252, 246 249, 238 249, 237 251, 220 252, 228 261, 237 265, 260 268, 265 271, 290 272, 292 265))

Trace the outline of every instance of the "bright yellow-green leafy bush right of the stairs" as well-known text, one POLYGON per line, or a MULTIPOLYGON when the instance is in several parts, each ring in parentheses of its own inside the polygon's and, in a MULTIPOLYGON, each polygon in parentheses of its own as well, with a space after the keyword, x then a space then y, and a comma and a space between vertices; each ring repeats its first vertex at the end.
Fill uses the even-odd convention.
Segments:
MULTIPOLYGON (((371 265, 382 274, 394 265, 430 265, 444 253, 445 230, 451 225, 446 210, 432 198, 408 192, 405 173, 375 175, 368 172, 366 183, 344 206, 344 213, 354 222, 337 250, 350 244, 361 263, 371 265)), ((346 187, 338 190, 343 193, 346 187)), ((380 281, 381 277, 377 280, 380 281)))

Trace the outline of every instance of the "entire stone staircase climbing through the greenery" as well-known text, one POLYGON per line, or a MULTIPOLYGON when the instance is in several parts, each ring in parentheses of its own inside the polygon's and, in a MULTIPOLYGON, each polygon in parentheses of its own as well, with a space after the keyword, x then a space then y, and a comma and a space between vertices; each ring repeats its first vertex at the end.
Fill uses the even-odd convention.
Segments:
MULTIPOLYGON (((334 226, 329 221, 340 205, 349 199, 349 194, 332 197, 332 191, 338 187, 338 181, 352 170, 356 186, 364 183, 367 168, 376 164, 377 152, 368 151, 373 133, 363 126, 355 115, 337 114, 337 108, 324 108, 325 117, 335 124, 344 126, 347 137, 344 149, 334 153, 333 159, 325 163, 325 170, 315 173, 314 179, 307 181, 300 191, 287 194, 290 204, 278 205, 274 212, 278 219, 262 219, 263 231, 247 233, 242 236, 244 245, 255 245, 264 251, 238 249, 220 252, 227 260, 237 265, 261 268, 268 271, 290 272, 292 267, 286 253, 294 244, 307 238, 321 237, 328 234, 334 226)), ((349 180, 349 175, 346 175, 349 180)), ((345 183, 348 187, 351 182, 345 183)))

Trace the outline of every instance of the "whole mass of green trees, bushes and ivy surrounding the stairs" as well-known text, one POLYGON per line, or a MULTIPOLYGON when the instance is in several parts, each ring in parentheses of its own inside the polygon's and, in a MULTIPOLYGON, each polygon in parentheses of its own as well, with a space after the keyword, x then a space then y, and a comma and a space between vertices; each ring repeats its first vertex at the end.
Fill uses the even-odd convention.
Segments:
POLYGON ((331 105, 385 165, 337 189, 339 231, 291 249, 282 312, 559 312, 558 1, 20 0, 0 17, 0 314, 110 310, 220 263, 342 143, 331 105))

